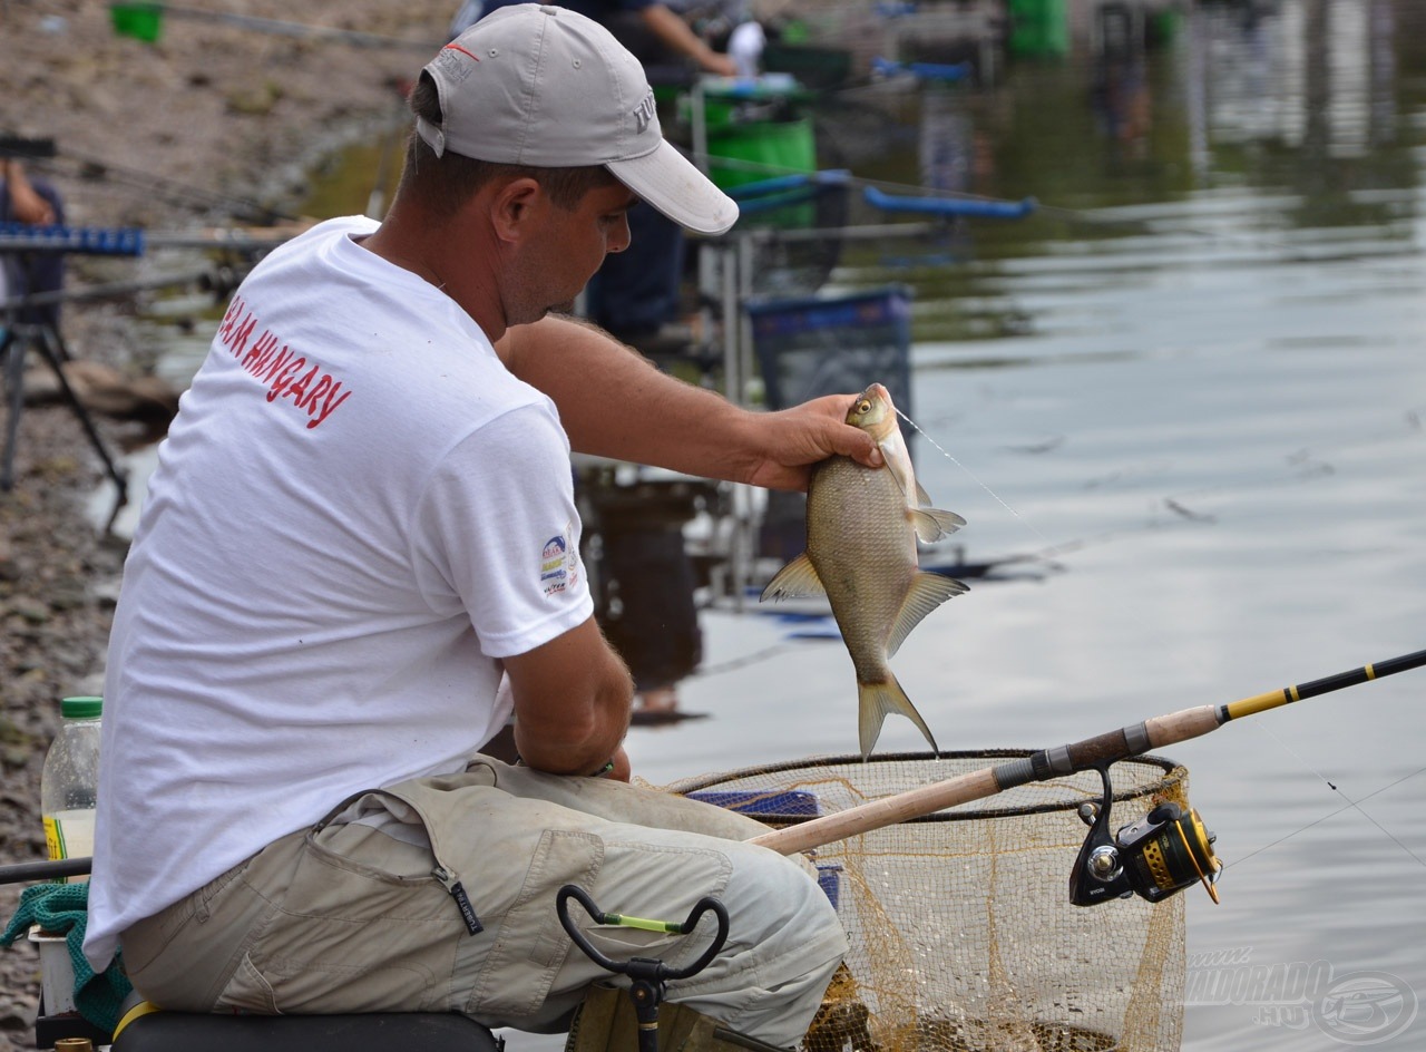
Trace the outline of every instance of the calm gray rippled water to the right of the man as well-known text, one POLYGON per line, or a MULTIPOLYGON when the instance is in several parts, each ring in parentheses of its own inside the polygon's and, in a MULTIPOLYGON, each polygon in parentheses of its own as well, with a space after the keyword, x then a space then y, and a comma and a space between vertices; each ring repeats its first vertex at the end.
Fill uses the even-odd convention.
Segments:
MULTIPOLYGON (((920 440, 918 473, 968 519, 967 557, 1022 560, 894 661, 944 748, 1058 744, 1426 647, 1426 13, 1258 9, 1202 4, 1147 56, 831 110, 820 141, 858 177, 1042 205, 848 244, 831 279, 914 289, 915 418, 948 450, 920 440)), ((637 773, 856 750, 840 643, 703 627, 683 700, 710 718, 637 728, 637 773)), ((1188 892, 1189 952, 1328 976, 1316 1009, 1242 984, 1204 1004, 1222 981, 1191 968, 1185 1049, 1422 1046, 1423 697, 1406 673, 1169 750, 1228 864, 1222 905, 1188 892), (1362 984, 1395 1001, 1325 996, 1362 984)), ((887 721, 878 750, 920 748, 887 721)))

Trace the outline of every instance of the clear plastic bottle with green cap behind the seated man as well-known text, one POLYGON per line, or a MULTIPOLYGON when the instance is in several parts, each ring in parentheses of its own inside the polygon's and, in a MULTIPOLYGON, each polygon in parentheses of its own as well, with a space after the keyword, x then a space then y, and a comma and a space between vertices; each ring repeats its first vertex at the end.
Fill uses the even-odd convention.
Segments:
MULTIPOLYGON (((40 817, 51 860, 94 854, 94 800, 98 788, 98 727, 104 700, 60 701, 60 733, 40 770, 40 817)), ((70 877, 86 881, 87 877, 70 877)))

